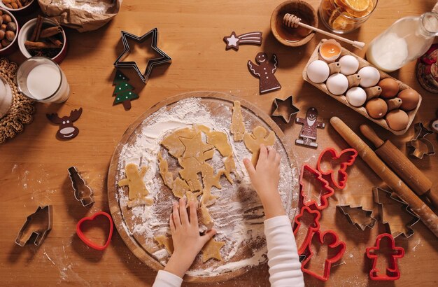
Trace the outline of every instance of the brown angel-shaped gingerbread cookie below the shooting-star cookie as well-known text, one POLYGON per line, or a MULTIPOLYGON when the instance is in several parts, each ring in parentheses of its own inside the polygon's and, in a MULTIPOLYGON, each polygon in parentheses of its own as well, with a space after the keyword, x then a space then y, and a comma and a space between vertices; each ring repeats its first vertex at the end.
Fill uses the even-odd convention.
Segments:
POLYGON ((253 76, 260 79, 260 94, 281 89, 280 83, 274 76, 278 64, 277 56, 273 54, 269 61, 267 53, 259 52, 255 57, 255 62, 258 65, 248 61, 248 69, 253 76))

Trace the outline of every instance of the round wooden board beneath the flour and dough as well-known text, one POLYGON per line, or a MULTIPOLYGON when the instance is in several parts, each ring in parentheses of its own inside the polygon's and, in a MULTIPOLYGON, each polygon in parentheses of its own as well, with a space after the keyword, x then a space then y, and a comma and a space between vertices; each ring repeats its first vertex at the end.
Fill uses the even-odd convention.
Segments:
MULTIPOLYGON (((113 216, 113 221, 115 223, 115 227, 117 228, 120 236, 125 241, 125 244, 127 244, 128 248, 136 255, 140 260, 146 263, 149 267, 159 270, 163 269, 164 265, 162 265, 162 262, 155 256, 155 254, 162 249, 162 247, 159 247, 153 239, 146 238, 144 235, 136 234, 136 232, 132 232, 135 223, 134 216, 132 215, 132 211, 130 209, 127 209, 127 207, 123 206, 123 204, 120 203, 120 193, 127 193, 127 190, 122 190, 118 187, 118 179, 120 179, 120 160, 123 160, 122 158, 122 149, 126 145, 135 145, 135 141, 139 134, 141 134, 142 127, 145 125, 148 125, 151 121, 154 120, 154 117, 157 116, 159 113, 155 113, 158 110, 165 107, 167 111, 171 109, 172 107, 176 106, 178 104, 178 101, 181 101, 183 99, 189 99, 189 98, 200 98, 200 102, 207 107, 211 115, 221 115, 221 116, 227 116, 227 113, 229 113, 229 118, 231 118, 231 111, 234 100, 236 98, 232 97, 229 94, 221 93, 221 92, 187 92, 184 94, 179 94, 175 97, 171 97, 163 102, 160 102, 150 108, 148 111, 143 113, 137 120, 132 123, 131 126, 127 129, 125 134, 123 134, 122 139, 120 140, 118 146, 116 146, 115 151, 113 153, 113 157, 111 158, 111 164, 108 170, 108 203, 111 210, 111 214, 113 216)), ((266 113, 263 111, 260 111, 256 106, 253 106, 253 104, 250 104, 242 99, 239 99, 241 102, 242 107, 242 114, 243 114, 243 120, 245 123, 247 123, 247 131, 248 131, 248 123, 250 123, 250 129, 252 130, 257 125, 262 125, 267 130, 273 130, 276 134, 276 144, 275 148, 277 151, 282 151, 283 154, 287 155, 285 156, 285 165, 287 172, 285 174, 285 177, 290 179, 290 190, 288 187, 288 195, 286 199, 283 197, 283 202, 286 202, 285 204, 288 205, 288 215, 290 218, 294 218, 295 211, 297 209, 298 205, 298 175, 299 172, 296 168, 295 159, 292 158, 292 151, 291 151, 291 144, 285 141, 285 137, 281 129, 276 125, 274 120, 272 120, 269 116, 267 116, 266 113)), ((202 124, 202 123, 193 123, 193 124, 202 124)), ((227 127, 228 128, 228 127, 227 127)), ((231 139, 230 139, 231 142, 231 139)), ((282 162, 283 165, 283 162, 282 162)), ((123 173, 122 173, 123 174, 123 173)), ((162 181, 160 174, 157 172, 156 179, 162 181)), ((225 178, 222 177, 222 181, 226 181, 225 178)), ((223 184, 222 184, 223 186, 223 184)), ((240 188, 240 187, 239 187, 240 188)), ((169 218, 169 214, 171 211, 171 201, 175 200, 176 197, 174 197, 169 190, 160 190, 160 202, 165 202, 166 204, 169 204, 169 211, 167 214, 157 214, 157 216, 165 216, 165 219, 169 218)), ((251 197, 257 197, 255 195, 255 192, 250 193, 251 197)), ((229 200, 239 201, 239 197, 230 197, 229 200)), ((220 204, 219 202, 216 202, 216 204, 220 204)), ((148 208, 148 207, 146 207, 148 208)), ((261 204, 260 207, 262 208, 261 204)), ((260 211, 262 212, 262 210, 260 211)), ((232 211, 225 211, 226 214, 232 213, 232 211)), ((213 216, 213 221, 215 220, 215 216, 213 216)), ((218 217, 216 215, 216 217, 218 217)), ((260 216, 259 216, 260 217, 260 216)), ((262 221, 263 218, 258 219, 258 226, 259 228, 262 228, 262 221)), ((253 223, 250 223, 253 224, 253 223)), ((248 225, 248 230, 251 228, 252 225, 248 225)), ((218 228, 216 228, 218 229, 218 228)), ((218 230, 220 232, 220 230, 218 230)), ((158 234, 157 234, 158 235, 158 234)), ((201 268, 201 269, 208 269, 208 268, 216 268, 220 267, 221 265, 225 265, 228 262, 234 262, 239 260, 245 260, 250 257, 252 257, 253 252, 259 250, 262 251, 263 248, 265 248, 265 242, 264 239, 262 243, 257 244, 241 244, 239 248, 236 248, 237 251, 235 255, 232 258, 229 258, 227 262, 225 260, 217 261, 217 260, 209 260, 206 263, 202 263, 202 260, 199 259, 199 256, 197 260, 195 260, 194 264, 192 265, 191 269, 201 268)), ((223 257, 223 254, 222 254, 223 257)), ((241 267, 238 266, 235 269, 227 269, 227 272, 223 272, 220 274, 191 274, 186 275, 184 277, 185 281, 194 281, 199 283, 211 283, 216 281, 225 281, 228 279, 231 279, 235 276, 239 276, 243 274, 244 272, 248 271, 250 267, 241 267)), ((221 269, 222 270, 222 269, 221 269)))

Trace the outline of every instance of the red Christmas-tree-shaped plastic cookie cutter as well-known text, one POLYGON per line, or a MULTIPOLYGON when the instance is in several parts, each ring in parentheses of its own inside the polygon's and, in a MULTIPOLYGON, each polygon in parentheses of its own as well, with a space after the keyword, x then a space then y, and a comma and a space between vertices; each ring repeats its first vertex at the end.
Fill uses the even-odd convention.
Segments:
POLYGON ((310 207, 312 204, 315 205, 316 209, 323 210, 328 207, 327 198, 334 194, 333 188, 330 187, 330 183, 323 179, 323 175, 318 172, 318 170, 313 169, 310 165, 304 164, 301 169, 301 174, 299 176, 299 193, 302 195, 303 205, 310 207), (307 198, 308 196, 304 193, 306 188, 303 178, 306 176, 305 174, 310 174, 313 179, 320 183, 320 203, 311 198, 307 198), (321 191, 325 190, 325 193, 321 194, 321 191))

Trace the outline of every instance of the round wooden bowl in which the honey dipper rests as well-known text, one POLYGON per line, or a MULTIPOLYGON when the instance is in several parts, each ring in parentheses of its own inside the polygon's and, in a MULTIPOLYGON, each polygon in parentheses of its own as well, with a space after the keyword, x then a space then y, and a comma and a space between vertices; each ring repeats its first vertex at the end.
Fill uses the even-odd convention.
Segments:
POLYGON ((271 31, 278 42, 290 47, 298 47, 311 41, 314 31, 304 27, 292 28, 283 23, 286 14, 292 14, 302 22, 318 27, 318 15, 311 4, 302 0, 290 0, 281 3, 271 15, 271 31))

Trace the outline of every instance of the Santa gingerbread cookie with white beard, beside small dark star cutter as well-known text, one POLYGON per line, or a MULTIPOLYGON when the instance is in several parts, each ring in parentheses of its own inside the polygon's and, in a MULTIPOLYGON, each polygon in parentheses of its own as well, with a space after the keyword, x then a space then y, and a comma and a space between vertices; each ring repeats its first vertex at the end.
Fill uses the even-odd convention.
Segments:
POLYGON ((325 123, 318 121, 318 111, 315 108, 309 108, 306 112, 306 118, 296 118, 295 122, 303 125, 301 132, 299 132, 299 139, 295 140, 295 144, 318 148, 316 129, 325 127, 325 123))

